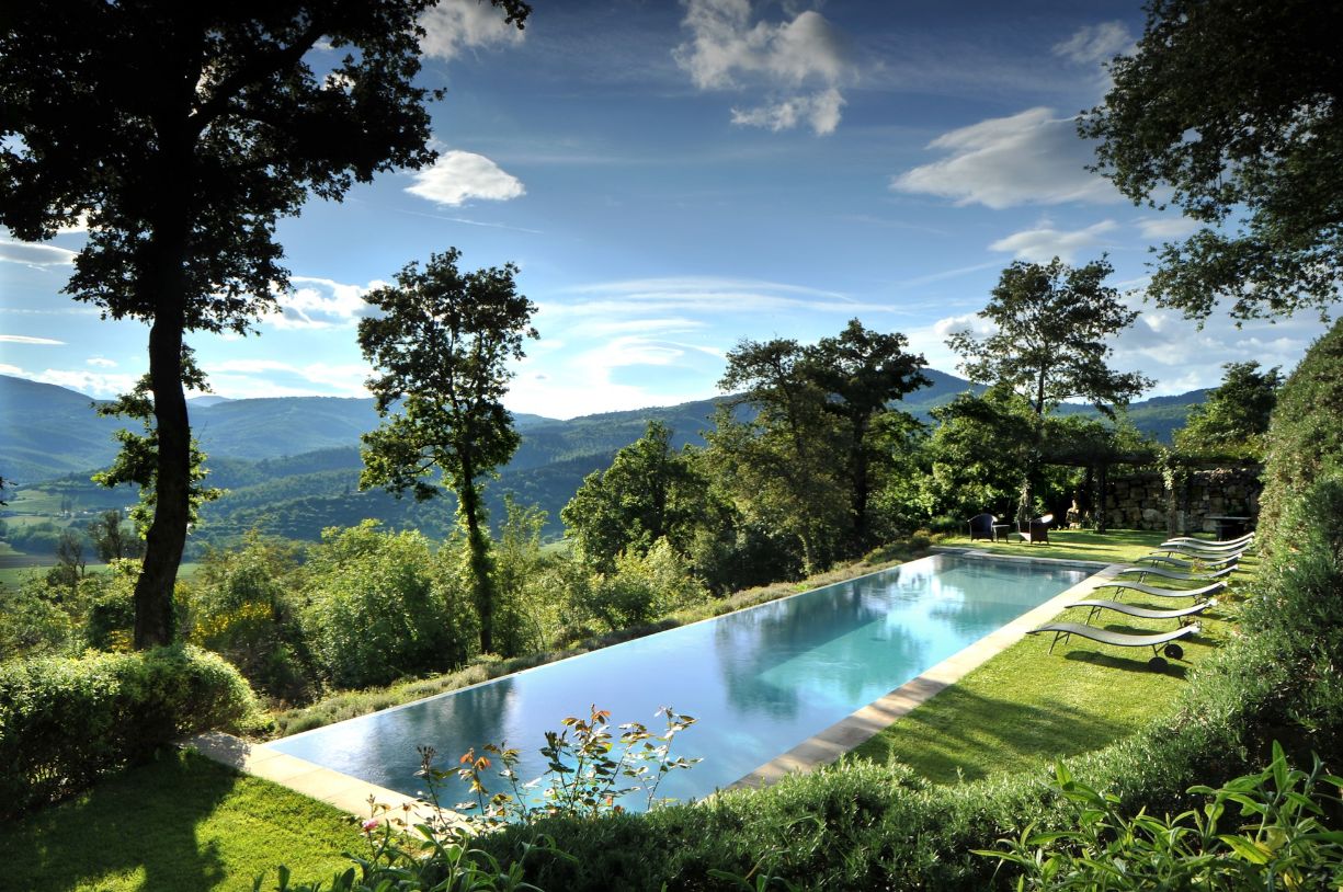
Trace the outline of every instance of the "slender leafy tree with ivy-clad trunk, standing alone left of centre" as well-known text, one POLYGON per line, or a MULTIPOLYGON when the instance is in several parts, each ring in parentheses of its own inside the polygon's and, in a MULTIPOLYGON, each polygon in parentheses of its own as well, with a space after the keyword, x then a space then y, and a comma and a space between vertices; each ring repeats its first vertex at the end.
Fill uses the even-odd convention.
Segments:
POLYGON ((521 442, 504 394, 508 364, 536 337, 536 312, 517 293, 517 267, 505 263, 461 273, 461 253, 434 254, 420 270, 407 265, 396 285, 365 296, 380 313, 359 322, 359 347, 380 373, 368 380, 383 423, 364 434, 360 488, 407 489, 419 500, 439 493, 435 470, 457 493, 466 531, 470 582, 481 621, 481 650, 494 650, 494 590, 481 484, 521 442))

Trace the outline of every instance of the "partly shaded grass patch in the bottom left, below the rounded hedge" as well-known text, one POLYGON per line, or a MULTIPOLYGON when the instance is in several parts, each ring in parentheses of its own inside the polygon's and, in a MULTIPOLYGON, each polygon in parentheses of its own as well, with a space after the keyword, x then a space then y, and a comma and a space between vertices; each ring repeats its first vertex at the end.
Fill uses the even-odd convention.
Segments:
POLYGON ((330 880, 364 838, 344 813, 192 754, 109 778, 0 828, 0 888, 205 892, 274 888, 275 866, 330 880))

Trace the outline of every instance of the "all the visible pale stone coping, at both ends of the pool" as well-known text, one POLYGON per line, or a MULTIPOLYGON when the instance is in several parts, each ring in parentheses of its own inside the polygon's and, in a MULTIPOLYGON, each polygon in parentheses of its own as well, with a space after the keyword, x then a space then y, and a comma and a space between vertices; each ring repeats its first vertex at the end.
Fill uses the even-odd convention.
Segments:
MULTIPOLYGON (((1050 598, 1044 605, 1033 607, 1006 626, 943 660, 917 678, 907 681, 881 699, 853 712, 846 719, 841 719, 821 733, 803 740, 783 755, 766 762, 747 776, 729 785, 728 790, 768 786, 787 774, 810 771, 818 766, 834 762, 845 752, 876 736, 880 731, 893 724, 915 707, 925 703, 937 692, 960 681, 960 678, 980 664, 987 662, 991 657, 1017 643, 1035 626, 1053 619, 1074 600, 1091 594, 1101 583, 1113 579, 1127 566, 1092 560, 1034 558, 1031 555, 1003 555, 958 547, 939 547, 933 548, 933 551, 984 560, 1037 563, 1099 572, 1093 572, 1082 582, 1050 598)), ((325 802, 357 817, 371 817, 371 798, 380 805, 388 806, 389 813, 387 814, 389 817, 403 817, 410 825, 424 823, 434 817, 450 817, 453 814, 445 809, 442 815, 436 815, 434 807, 423 799, 360 780, 359 778, 333 771, 306 759, 271 750, 265 744, 247 743, 220 731, 197 735, 184 742, 184 746, 192 747, 203 756, 227 764, 236 771, 289 787, 295 793, 325 802)))

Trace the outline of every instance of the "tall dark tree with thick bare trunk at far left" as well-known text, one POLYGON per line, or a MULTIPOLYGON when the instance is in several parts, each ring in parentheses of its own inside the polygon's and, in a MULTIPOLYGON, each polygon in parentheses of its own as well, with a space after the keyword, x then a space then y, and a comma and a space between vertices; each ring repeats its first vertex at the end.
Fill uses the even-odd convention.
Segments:
MULTIPOLYGON (((529 12, 492 3, 518 26, 529 12)), ((309 195, 434 159, 436 94, 414 83, 430 4, 5 5, 0 223, 36 240, 83 220, 66 292, 149 325, 158 469, 137 648, 172 637, 191 489, 183 336, 243 332, 274 306, 289 281, 275 223, 309 195)))

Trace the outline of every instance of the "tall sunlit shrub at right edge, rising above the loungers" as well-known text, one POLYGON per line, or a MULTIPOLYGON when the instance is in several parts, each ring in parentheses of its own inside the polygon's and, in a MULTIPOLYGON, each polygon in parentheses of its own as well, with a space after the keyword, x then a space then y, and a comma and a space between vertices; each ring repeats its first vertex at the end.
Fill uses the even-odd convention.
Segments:
POLYGON ((1284 527, 1289 502, 1332 470, 1343 470, 1343 320, 1311 345, 1277 394, 1266 435, 1260 548, 1270 552, 1296 529, 1284 527))

